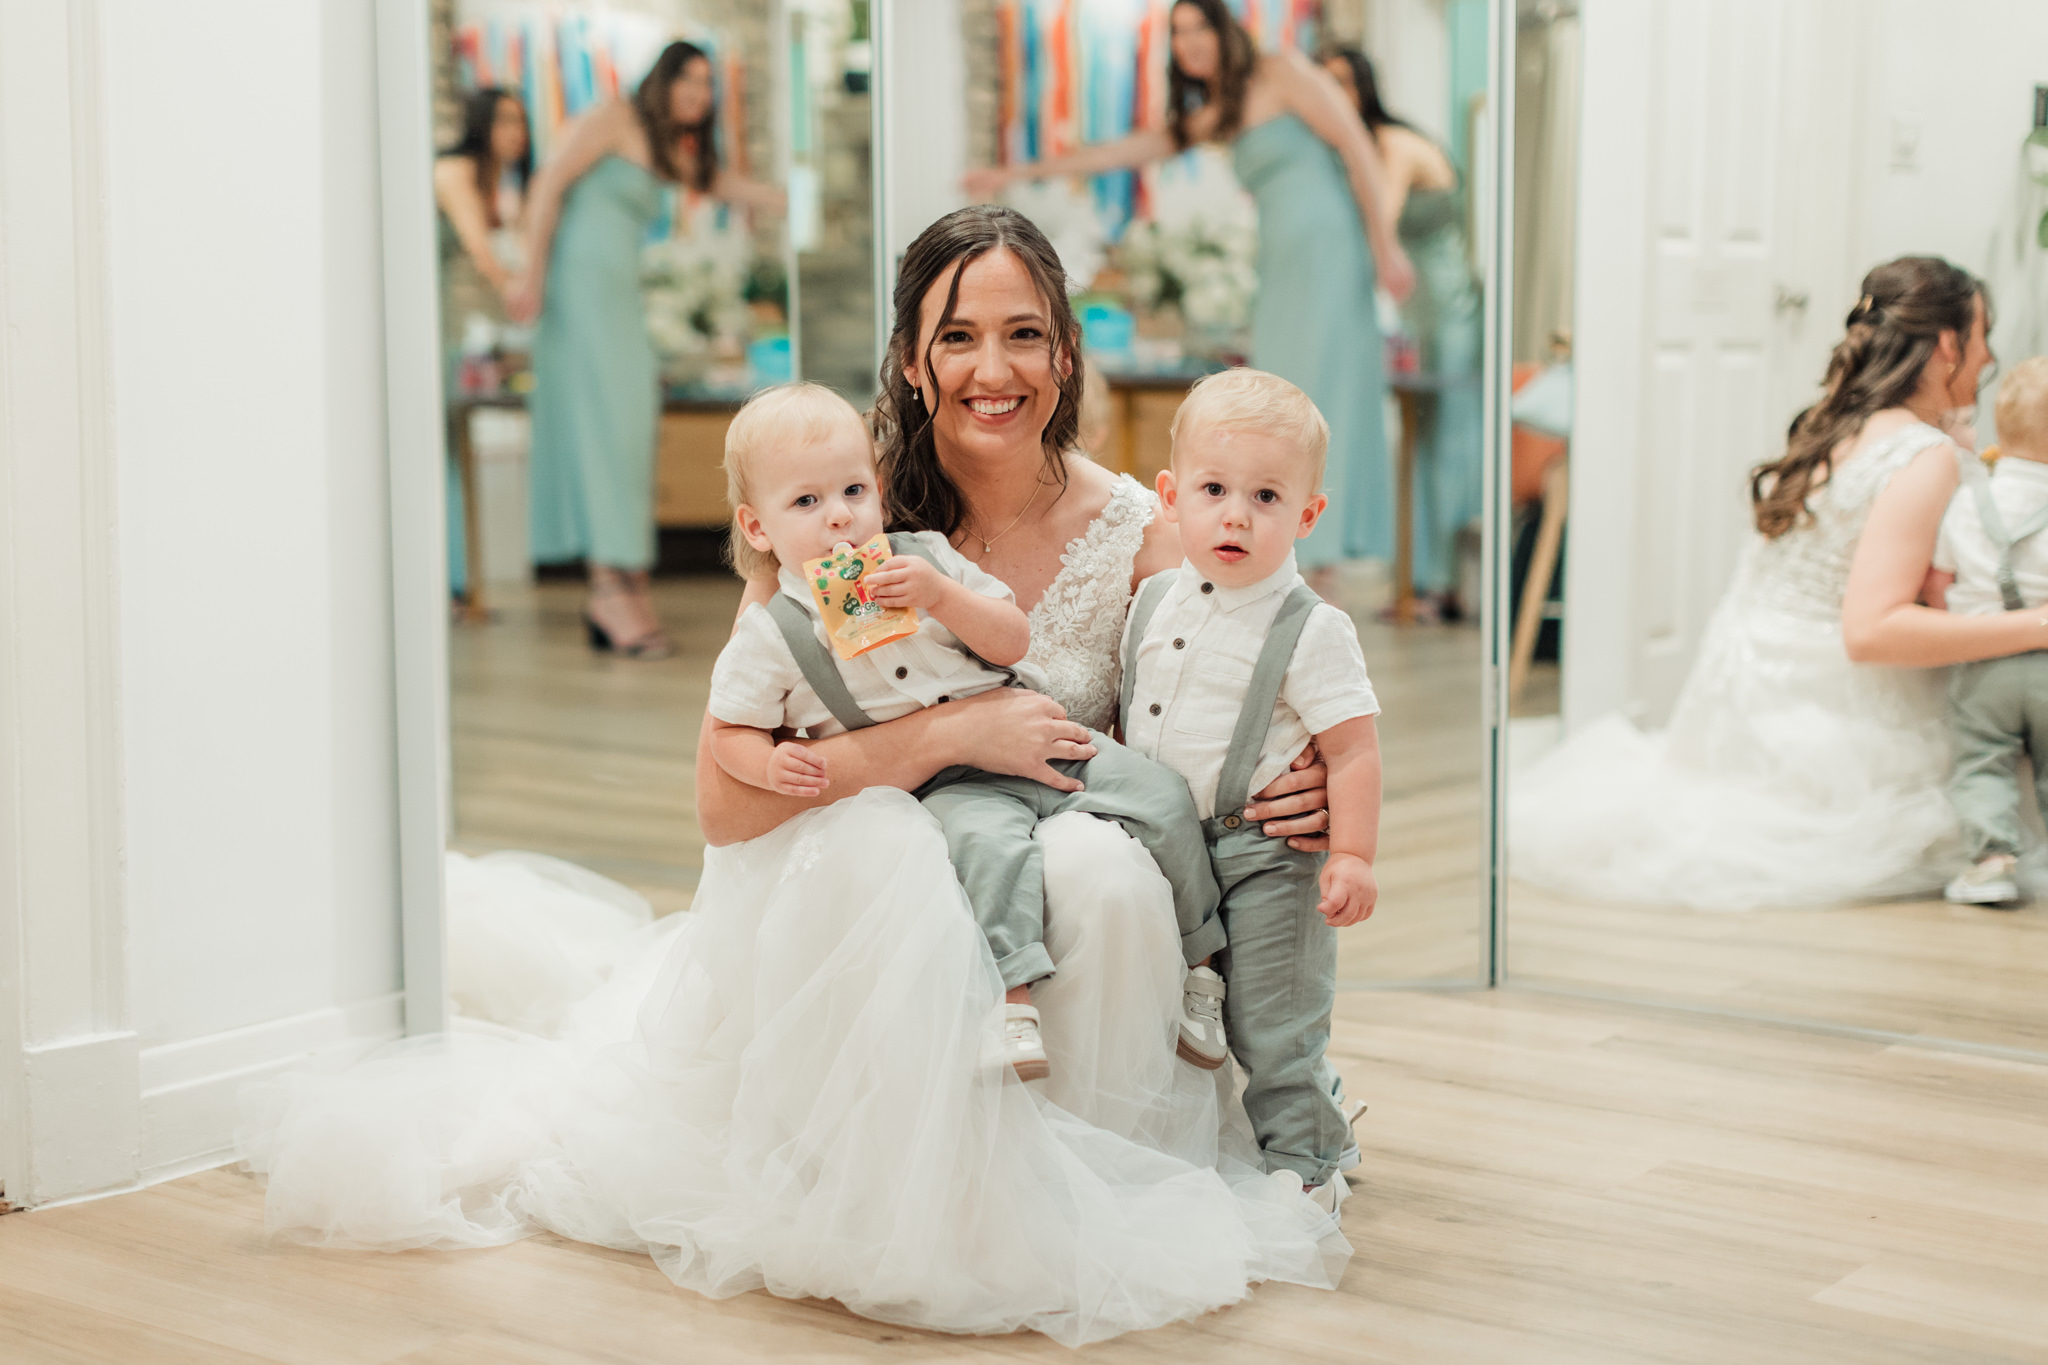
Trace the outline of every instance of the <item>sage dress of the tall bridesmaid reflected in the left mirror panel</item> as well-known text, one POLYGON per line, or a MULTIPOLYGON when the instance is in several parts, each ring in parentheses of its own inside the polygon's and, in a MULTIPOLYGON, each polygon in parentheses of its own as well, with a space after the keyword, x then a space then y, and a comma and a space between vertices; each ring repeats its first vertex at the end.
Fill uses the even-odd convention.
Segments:
POLYGON ((662 182, 616 156, 569 186, 532 340, 532 557, 653 563, 659 368, 639 256, 662 182))

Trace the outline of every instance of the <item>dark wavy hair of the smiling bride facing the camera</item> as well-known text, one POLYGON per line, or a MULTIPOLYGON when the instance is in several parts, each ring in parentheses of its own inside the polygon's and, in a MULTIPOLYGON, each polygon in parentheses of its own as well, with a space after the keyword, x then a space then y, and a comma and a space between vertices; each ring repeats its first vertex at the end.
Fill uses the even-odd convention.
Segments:
POLYGON ((895 329, 889 334, 881 393, 874 397, 874 436, 881 442, 889 530, 936 530, 948 538, 961 530, 967 503, 940 465, 938 442, 932 438, 934 409, 942 401, 932 346, 954 317, 952 309, 961 303, 961 274, 969 262, 997 250, 1010 252, 1024 264, 1044 299, 1049 319, 1044 340, 1053 352, 1053 381, 1059 385, 1059 403, 1053 405, 1053 420, 1044 424, 1044 469, 1055 483, 1067 487, 1065 452, 1073 448, 1081 430, 1085 381, 1081 325, 1073 319, 1073 305, 1067 303, 1067 270, 1038 225, 1016 209, 1001 205, 954 209, 918 233, 903 252, 903 264, 897 266, 895 329), (932 336, 918 336, 924 297, 940 280, 946 282, 946 307, 940 309, 932 336), (903 377, 907 368, 924 370, 924 391, 932 395, 932 407, 918 401, 918 391, 903 377))

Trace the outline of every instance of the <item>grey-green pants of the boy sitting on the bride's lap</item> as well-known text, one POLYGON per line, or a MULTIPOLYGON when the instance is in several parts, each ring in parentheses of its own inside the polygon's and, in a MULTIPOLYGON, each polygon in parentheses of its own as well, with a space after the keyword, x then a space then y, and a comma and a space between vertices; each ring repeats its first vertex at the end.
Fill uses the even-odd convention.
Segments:
POLYGON ((946 829, 946 851, 975 921, 989 939, 1004 986, 1026 986, 1053 974, 1044 950, 1044 849, 1032 837, 1038 821, 1085 810, 1116 821, 1145 845, 1174 888, 1180 952, 1192 966, 1223 948, 1217 919, 1217 878, 1194 798, 1178 772, 1090 731, 1092 759, 1053 763, 1083 790, 1057 792, 1030 778, 1006 778, 977 767, 948 767, 915 796, 946 829))

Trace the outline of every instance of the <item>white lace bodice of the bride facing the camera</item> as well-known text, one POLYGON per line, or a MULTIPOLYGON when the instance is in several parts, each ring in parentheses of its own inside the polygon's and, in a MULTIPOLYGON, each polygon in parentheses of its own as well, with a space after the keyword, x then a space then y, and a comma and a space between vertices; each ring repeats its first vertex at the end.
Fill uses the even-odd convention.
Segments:
POLYGON ((1102 516, 1067 542, 1059 575, 1030 610, 1030 661, 1044 669, 1067 716, 1094 731, 1106 731, 1116 714, 1130 571, 1157 508, 1143 483, 1118 475, 1102 516))

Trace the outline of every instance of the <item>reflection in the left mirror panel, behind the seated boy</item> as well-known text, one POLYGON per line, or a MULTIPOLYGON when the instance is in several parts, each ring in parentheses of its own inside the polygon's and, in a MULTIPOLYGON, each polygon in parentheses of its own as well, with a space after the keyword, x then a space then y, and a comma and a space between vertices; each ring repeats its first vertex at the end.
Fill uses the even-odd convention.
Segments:
POLYGON ((465 853, 688 900, 705 671, 739 598, 725 426, 799 356, 872 383, 864 8, 432 6, 465 853))

